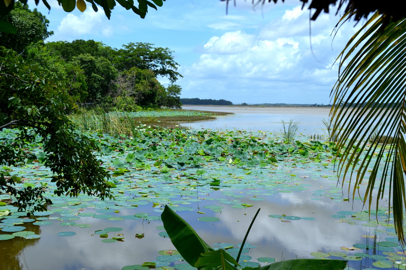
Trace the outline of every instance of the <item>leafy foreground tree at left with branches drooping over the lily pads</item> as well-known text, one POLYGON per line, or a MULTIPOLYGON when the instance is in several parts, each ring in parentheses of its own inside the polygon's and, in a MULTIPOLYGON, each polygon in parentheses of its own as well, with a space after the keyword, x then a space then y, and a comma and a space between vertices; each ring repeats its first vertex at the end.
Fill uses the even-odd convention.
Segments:
MULTIPOLYGON (((18 128, 17 139, 0 144, 0 163, 15 165, 35 158, 23 149, 36 136, 47 138, 43 151, 45 166, 56 182, 55 194, 76 196, 81 191, 100 199, 110 195, 108 174, 93 155, 94 139, 75 130, 67 117, 76 104, 68 94, 69 81, 58 79, 15 51, 0 47, 0 129, 18 128)), ((17 198, 22 209, 41 210, 43 189, 28 185, 16 189, 12 177, 0 172, 0 188, 17 198)), ((49 199, 45 199, 50 203, 49 199)))

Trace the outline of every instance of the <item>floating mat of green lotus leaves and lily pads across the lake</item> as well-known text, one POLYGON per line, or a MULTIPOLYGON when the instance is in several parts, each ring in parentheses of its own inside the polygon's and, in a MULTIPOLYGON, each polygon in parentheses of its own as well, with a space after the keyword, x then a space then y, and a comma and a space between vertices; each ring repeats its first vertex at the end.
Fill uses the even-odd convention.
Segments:
MULTIPOLYGON (((12 142, 17 133, 17 130, 0 132, 0 143, 12 142)), ((146 128, 139 130, 136 138, 107 133, 87 133, 87 136, 100 148, 94 154, 109 171, 109 185, 114 198, 101 201, 87 194, 78 197, 54 195, 56 186, 50 182, 52 173, 44 165, 47 159, 47 154, 42 152, 45 141, 37 137, 26 149, 36 154, 37 160, 2 169, 9 173, 9 177, 13 177, 19 189, 42 186, 46 191, 45 197, 52 200, 52 205, 47 206, 48 211, 35 212, 28 217, 26 212, 17 212, 18 208, 11 206, 14 197, 1 194, 0 245, 19 239, 33 243, 43 241, 45 237, 41 238, 41 234, 47 234, 48 241, 54 239, 56 242, 72 239, 80 241, 87 235, 96 239, 102 247, 114 246, 113 249, 117 249, 123 242, 147 238, 141 229, 153 223, 155 236, 162 241, 162 245, 169 245, 167 248, 170 248, 170 242, 166 239, 168 234, 160 218, 165 205, 188 221, 194 219, 195 225, 214 228, 230 217, 227 213, 240 211, 245 214, 247 208, 264 208, 270 201, 285 198, 287 203, 289 198, 300 197, 300 201, 306 198, 309 204, 320 203, 318 207, 347 203, 348 211, 331 212, 326 216, 328 222, 365 229, 365 235, 360 235, 363 241, 341 249, 338 246, 336 250, 315 251, 307 256, 324 259, 341 257, 356 261, 350 263, 353 267, 362 261, 365 268, 395 266, 405 269, 406 255, 397 241, 393 221, 388 216, 389 209, 382 206, 372 212, 373 216, 361 209, 360 212, 350 211, 348 202, 357 203, 361 199, 348 197, 348 192, 341 190, 341 180, 337 185, 339 179, 335 172, 337 161, 334 159, 333 144, 302 140, 302 137, 298 137, 292 144, 285 144, 278 133, 185 129, 146 128), (314 186, 317 180, 327 184, 316 182, 314 186)), ((366 177, 363 184, 367 182, 366 177)), ((379 184, 376 182, 374 188, 377 189, 379 184)), ((305 226, 320 222, 317 213, 310 211, 300 214, 294 208, 285 213, 264 209, 262 211, 267 212, 261 214, 266 214, 269 227, 275 226, 277 221, 283 222, 278 223, 283 226, 305 226)), ((289 234, 289 227, 284 228, 287 230, 285 234, 289 234)), ((240 264, 243 267, 258 267, 283 259, 280 254, 250 255, 253 249, 263 244, 245 243, 240 264)), ((146 247, 147 243, 143 242, 143 245, 146 247)), ((213 246, 216 249, 227 248, 227 252, 235 257, 241 244, 216 243, 213 246)), ((103 256, 102 253, 100 255, 103 256)), ((134 264, 120 265, 117 269, 148 270, 151 266, 142 264, 147 259, 155 258, 128 256, 134 264)), ((175 250, 159 251, 155 260, 147 262, 155 263, 159 270, 194 270, 175 250)), ((116 266, 120 263, 117 261, 116 266)))

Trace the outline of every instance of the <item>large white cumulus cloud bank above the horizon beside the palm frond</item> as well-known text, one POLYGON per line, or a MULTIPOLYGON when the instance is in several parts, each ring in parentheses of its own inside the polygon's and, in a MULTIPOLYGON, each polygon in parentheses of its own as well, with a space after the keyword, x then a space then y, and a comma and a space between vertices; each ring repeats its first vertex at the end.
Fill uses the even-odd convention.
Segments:
POLYGON ((332 51, 330 36, 337 20, 322 14, 311 22, 301 6, 287 9, 256 34, 243 30, 212 36, 199 60, 182 70, 184 97, 212 92, 213 98, 238 103, 328 103, 337 80, 331 65, 356 28, 345 25, 332 51), (311 94, 308 94, 311 93, 311 94))

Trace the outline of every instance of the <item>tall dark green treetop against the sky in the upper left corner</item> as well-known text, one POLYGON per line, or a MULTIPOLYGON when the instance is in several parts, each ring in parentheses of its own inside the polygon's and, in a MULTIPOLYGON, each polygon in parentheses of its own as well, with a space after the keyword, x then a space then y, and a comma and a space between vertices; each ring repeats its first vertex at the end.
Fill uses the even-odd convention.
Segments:
POLYGON ((37 9, 31 11, 28 5, 23 6, 20 2, 16 2, 14 7, 10 13, 1 16, 0 20, 13 24, 17 33, 0 32, 0 46, 22 52, 29 44, 43 41, 54 34, 53 31, 48 31, 50 21, 37 9))

